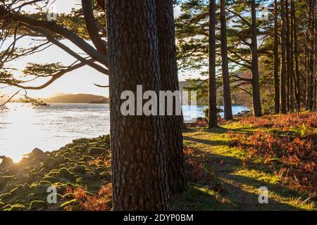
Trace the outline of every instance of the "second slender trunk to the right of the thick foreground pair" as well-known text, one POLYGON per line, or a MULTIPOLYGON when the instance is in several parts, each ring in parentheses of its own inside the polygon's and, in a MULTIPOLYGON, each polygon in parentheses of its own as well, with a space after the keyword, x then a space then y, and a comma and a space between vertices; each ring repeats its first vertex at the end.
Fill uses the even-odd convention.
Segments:
POLYGON ((228 66, 227 21, 225 18, 225 0, 220 0, 221 25, 221 59, 223 68, 223 98, 225 106, 225 120, 232 119, 231 91, 228 66))

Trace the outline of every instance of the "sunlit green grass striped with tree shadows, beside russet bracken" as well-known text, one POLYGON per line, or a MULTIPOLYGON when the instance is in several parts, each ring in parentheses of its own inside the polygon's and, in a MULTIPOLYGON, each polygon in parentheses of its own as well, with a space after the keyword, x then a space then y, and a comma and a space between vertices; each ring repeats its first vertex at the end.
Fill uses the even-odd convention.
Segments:
POLYGON ((185 146, 194 148, 195 157, 203 162, 204 179, 190 182, 188 191, 175 196, 173 210, 317 210, 306 193, 282 185, 283 178, 264 160, 246 160, 248 151, 232 146, 230 131, 252 134, 257 130, 230 122, 218 129, 185 131, 185 146), (268 188, 268 204, 259 203, 261 186, 268 188))

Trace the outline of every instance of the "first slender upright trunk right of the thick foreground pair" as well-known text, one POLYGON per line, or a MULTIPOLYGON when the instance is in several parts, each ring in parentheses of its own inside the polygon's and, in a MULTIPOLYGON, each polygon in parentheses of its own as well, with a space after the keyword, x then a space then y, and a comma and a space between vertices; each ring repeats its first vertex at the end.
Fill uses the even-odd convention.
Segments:
POLYGON ((209 2, 209 128, 217 127, 216 1, 209 2))

